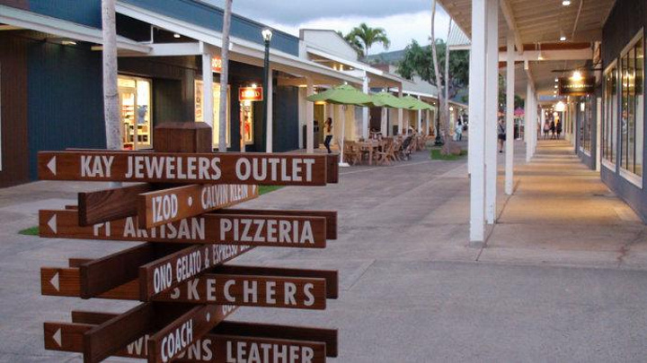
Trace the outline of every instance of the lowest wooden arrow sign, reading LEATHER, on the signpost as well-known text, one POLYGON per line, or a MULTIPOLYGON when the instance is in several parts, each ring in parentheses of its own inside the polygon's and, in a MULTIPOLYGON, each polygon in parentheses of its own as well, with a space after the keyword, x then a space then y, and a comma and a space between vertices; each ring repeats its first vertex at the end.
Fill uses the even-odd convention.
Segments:
MULTIPOLYGON (((83 352, 83 334, 93 326, 93 324, 79 323, 45 323, 45 349, 83 352)), ((329 329, 222 322, 202 339, 191 344, 188 350, 179 354, 173 361, 321 363, 326 361, 326 356, 336 356, 331 355, 330 349, 333 345, 336 347, 336 335, 336 331, 329 329), (244 332, 241 332, 243 330, 244 332), (244 335, 220 333, 221 331, 235 331, 244 335), (306 337, 315 339, 306 339, 306 337)), ((149 338, 148 334, 142 336, 125 349, 116 352, 114 356, 145 359, 148 355, 146 342, 149 338)))

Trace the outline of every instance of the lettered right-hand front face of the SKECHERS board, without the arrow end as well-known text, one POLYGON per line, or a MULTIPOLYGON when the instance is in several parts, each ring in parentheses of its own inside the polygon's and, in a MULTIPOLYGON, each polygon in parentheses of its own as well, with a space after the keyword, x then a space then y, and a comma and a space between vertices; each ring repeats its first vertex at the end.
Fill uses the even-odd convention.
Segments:
POLYGON ((323 310, 326 287, 324 279, 206 274, 155 301, 323 310))

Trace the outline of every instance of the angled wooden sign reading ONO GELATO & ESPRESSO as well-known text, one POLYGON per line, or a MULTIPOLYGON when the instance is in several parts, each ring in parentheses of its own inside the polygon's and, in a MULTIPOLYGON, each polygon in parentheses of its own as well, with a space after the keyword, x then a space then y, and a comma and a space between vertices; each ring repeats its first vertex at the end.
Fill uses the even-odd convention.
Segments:
POLYGON ((242 255, 247 246, 199 245, 191 246, 139 267, 140 299, 150 298, 190 280, 211 267, 224 264, 242 255))

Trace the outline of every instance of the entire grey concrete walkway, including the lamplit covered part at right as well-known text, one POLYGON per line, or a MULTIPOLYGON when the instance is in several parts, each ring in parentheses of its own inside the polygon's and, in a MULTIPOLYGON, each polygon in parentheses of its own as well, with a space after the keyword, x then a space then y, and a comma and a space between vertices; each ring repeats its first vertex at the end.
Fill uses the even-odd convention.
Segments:
MULTIPOLYGON (((643 362, 643 223, 565 143, 540 143, 528 165, 521 144, 518 151, 517 194, 501 195, 501 223, 483 249, 467 246, 465 160, 426 152, 392 167, 342 169, 337 185, 286 187, 244 203, 339 211, 339 238, 325 249, 257 248, 235 264, 338 270, 341 296, 325 311, 242 308, 232 318, 338 328, 340 357, 331 362, 643 362)), ((43 350, 42 322, 66 321, 72 309, 133 306, 41 297, 39 274, 133 244, 16 234, 36 225, 38 209, 96 187, 0 190, 0 362, 81 362, 43 350)))

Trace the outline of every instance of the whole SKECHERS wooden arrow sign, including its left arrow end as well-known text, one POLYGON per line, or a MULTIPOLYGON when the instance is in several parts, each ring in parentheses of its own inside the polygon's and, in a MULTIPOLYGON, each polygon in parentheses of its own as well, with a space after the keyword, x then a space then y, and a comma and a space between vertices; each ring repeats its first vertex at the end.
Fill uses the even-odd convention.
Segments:
MULTIPOLYGON (((337 272, 272 267, 223 266, 227 273, 206 273, 153 297, 154 301, 188 304, 226 304, 250 307, 323 309, 326 298, 337 298, 337 272), (247 274, 245 274, 247 272, 247 274), (280 272, 285 272, 280 275, 280 272), (253 275, 249 273, 257 273, 253 275)), ((158 278, 159 279, 159 278, 158 278)), ((154 282, 155 283, 155 282, 154 282)), ((43 295, 79 297, 78 268, 40 269, 43 295)), ((106 291, 97 298, 137 300, 139 280, 106 291)))

